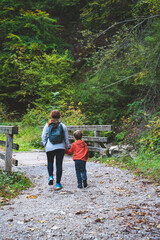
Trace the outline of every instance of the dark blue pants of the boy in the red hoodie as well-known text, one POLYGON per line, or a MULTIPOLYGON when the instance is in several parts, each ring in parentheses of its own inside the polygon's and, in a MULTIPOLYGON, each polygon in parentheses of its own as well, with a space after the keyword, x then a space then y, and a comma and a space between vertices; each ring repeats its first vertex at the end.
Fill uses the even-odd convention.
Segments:
POLYGON ((78 187, 82 187, 82 181, 87 180, 86 162, 82 160, 74 160, 78 181, 78 187))

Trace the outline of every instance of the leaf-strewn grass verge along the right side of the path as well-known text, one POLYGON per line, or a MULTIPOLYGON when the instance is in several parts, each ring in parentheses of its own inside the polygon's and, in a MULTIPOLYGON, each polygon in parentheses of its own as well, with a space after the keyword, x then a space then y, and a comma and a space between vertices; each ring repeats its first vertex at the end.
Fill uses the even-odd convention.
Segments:
POLYGON ((135 158, 129 156, 93 158, 107 166, 118 167, 132 171, 135 175, 160 183, 160 155, 154 153, 139 153, 135 158))

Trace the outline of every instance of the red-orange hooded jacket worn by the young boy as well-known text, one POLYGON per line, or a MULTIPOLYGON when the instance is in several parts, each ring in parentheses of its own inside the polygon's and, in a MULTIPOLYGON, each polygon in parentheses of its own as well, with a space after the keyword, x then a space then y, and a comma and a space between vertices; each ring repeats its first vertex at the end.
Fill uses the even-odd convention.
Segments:
POLYGON ((87 144, 82 140, 76 140, 72 143, 70 149, 66 150, 67 154, 73 153, 73 160, 83 160, 87 161, 88 159, 88 147, 87 144))

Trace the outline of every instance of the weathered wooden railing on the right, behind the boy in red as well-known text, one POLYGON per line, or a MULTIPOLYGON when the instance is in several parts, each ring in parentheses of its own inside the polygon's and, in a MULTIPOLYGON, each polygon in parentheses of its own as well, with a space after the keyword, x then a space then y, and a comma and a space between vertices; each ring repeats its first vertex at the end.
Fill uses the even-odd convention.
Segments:
POLYGON ((82 126, 67 126, 70 144, 74 141, 73 133, 76 130, 83 131, 82 140, 88 145, 88 150, 92 152, 104 153, 106 151, 107 137, 100 137, 100 132, 112 131, 112 125, 82 125, 82 126), (86 136, 85 131, 93 131, 94 136, 86 136))

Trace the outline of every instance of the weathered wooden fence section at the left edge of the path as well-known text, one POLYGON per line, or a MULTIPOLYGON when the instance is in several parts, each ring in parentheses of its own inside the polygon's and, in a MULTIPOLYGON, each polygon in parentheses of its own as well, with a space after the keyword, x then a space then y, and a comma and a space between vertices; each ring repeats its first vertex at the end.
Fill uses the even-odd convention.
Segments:
POLYGON ((0 126, 0 133, 6 134, 6 141, 0 140, 0 145, 5 146, 5 154, 0 153, 0 158, 5 160, 5 171, 11 171, 12 164, 18 165, 18 160, 12 158, 12 149, 19 149, 19 145, 13 143, 13 135, 18 134, 18 127, 0 126))

